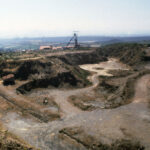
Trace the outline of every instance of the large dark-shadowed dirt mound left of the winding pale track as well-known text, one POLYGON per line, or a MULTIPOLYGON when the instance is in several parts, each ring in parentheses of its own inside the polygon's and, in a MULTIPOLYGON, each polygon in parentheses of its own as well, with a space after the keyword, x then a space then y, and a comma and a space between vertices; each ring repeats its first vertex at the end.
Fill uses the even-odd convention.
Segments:
POLYGON ((89 85, 89 72, 77 66, 65 64, 58 58, 24 62, 16 71, 15 78, 29 80, 17 88, 22 94, 36 88, 85 87, 89 85))

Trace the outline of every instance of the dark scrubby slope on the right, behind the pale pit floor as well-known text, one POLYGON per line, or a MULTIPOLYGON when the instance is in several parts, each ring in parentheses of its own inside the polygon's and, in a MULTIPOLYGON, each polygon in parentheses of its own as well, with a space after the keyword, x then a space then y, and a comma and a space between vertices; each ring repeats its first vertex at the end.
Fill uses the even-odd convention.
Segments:
POLYGON ((103 46, 97 49, 97 53, 105 57, 118 58, 123 63, 135 67, 144 62, 146 48, 143 44, 119 43, 103 46))

